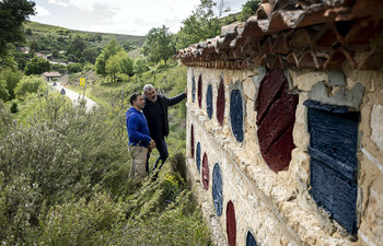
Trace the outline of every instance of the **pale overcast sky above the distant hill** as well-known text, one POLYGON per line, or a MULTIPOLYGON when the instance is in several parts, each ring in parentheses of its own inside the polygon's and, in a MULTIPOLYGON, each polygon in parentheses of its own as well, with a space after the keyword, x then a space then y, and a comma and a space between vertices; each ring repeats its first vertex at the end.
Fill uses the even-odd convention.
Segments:
MULTIPOLYGON (((219 1, 219 0, 217 0, 219 1)), ((31 21, 71 30, 146 35, 150 28, 166 25, 179 31, 200 0, 35 0, 31 21)), ((246 0, 225 0, 239 12, 246 0)))

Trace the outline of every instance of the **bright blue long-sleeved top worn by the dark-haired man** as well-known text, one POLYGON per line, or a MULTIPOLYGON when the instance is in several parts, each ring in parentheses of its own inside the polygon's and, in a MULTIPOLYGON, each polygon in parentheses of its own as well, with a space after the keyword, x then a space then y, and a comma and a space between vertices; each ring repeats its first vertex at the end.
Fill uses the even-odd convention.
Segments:
POLYGON ((142 112, 130 107, 126 112, 126 127, 129 136, 129 145, 149 145, 151 138, 148 121, 142 112))

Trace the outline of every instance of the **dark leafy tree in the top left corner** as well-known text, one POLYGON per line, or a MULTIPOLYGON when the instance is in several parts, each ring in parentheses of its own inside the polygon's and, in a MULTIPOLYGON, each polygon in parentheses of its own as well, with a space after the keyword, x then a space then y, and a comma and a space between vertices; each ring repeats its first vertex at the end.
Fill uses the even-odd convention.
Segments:
POLYGON ((34 7, 28 0, 0 1, 0 59, 7 56, 8 43, 25 42, 23 22, 35 14, 34 7))

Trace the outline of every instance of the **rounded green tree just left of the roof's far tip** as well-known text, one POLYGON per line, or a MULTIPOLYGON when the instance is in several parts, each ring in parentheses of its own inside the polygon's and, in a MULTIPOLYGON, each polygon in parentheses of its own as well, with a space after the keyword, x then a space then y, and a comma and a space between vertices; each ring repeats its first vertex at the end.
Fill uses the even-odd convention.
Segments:
POLYGON ((151 28, 147 34, 141 52, 155 63, 162 59, 166 66, 166 60, 175 54, 169 27, 162 25, 159 28, 151 28))

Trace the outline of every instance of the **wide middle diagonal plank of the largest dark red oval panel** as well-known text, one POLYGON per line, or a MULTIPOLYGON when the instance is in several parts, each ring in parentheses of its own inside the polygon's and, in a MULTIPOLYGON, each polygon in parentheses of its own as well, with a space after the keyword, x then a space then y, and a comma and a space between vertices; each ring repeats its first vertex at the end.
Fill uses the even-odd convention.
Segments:
POLYGON ((266 153, 285 131, 294 124, 297 104, 298 95, 285 92, 271 105, 257 131, 260 152, 266 153))

